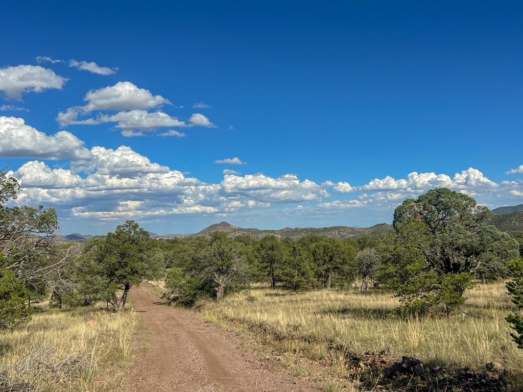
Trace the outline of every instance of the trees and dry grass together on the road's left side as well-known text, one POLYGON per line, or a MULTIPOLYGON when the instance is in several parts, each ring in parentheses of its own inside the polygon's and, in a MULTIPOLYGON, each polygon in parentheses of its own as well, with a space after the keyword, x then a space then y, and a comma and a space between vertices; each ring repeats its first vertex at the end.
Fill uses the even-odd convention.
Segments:
POLYGON ((139 323, 127 293, 163 274, 161 250, 132 221, 61 241, 53 209, 8 206, 18 189, 0 171, 0 390, 118 390, 139 323))

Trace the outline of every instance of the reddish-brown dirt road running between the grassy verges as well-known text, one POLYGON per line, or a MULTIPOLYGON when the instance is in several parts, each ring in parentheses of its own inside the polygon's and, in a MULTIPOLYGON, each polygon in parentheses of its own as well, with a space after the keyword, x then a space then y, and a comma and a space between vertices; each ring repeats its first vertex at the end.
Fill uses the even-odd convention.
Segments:
POLYGON ((146 330, 137 337, 138 354, 123 390, 291 392, 317 391, 289 374, 261 367, 253 352, 239 347, 235 338, 225 338, 184 310, 158 302, 147 286, 133 287, 129 297, 134 309, 143 312, 146 330))

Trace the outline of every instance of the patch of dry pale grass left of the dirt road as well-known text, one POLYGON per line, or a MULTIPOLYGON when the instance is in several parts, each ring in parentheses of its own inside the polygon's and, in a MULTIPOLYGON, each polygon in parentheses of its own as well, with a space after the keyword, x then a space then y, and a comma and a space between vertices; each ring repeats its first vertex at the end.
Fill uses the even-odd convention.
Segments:
POLYGON ((130 358, 138 314, 78 308, 45 310, 0 333, 0 385, 36 391, 114 391, 130 358))

